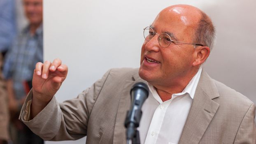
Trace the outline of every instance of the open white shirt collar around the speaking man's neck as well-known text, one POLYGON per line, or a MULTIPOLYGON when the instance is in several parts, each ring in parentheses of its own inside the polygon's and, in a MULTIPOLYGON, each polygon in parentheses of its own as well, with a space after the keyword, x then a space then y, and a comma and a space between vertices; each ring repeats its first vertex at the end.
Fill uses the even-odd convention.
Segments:
MULTIPOLYGON (((173 96, 176 97, 178 95, 184 95, 185 93, 188 93, 189 96, 193 99, 195 95, 195 89, 198 85, 198 81, 200 79, 202 73, 202 67, 198 69, 198 72, 194 75, 194 77, 189 81, 189 84, 184 88, 184 90, 181 93, 174 93, 173 96)), ((148 83, 149 91, 152 93, 154 98, 156 98, 159 101, 162 101, 159 97, 158 93, 156 92, 156 88, 148 83), (156 97, 157 95, 157 97, 156 97)))

